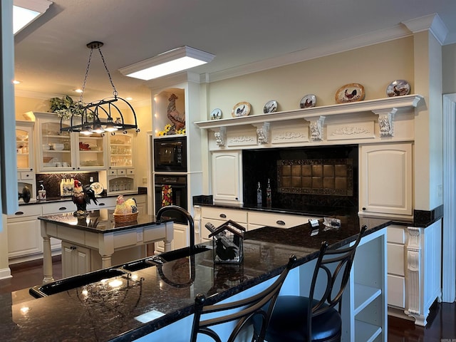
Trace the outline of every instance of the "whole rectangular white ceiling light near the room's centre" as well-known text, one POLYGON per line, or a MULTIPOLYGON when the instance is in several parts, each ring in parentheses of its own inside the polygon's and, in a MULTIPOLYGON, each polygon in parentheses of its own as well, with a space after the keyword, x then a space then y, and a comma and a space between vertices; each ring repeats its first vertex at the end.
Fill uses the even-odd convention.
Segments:
POLYGON ((211 53, 199 51, 190 46, 182 46, 131 66, 125 66, 125 68, 120 68, 119 71, 125 76, 148 81, 152 80, 152 78, 159 78, 209 63, 214 57, 215 55, 211 53))

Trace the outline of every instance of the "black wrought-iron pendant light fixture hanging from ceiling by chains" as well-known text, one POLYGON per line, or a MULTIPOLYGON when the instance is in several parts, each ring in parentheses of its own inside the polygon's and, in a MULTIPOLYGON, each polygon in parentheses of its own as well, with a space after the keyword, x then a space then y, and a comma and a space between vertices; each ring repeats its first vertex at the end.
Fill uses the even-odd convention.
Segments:
POLYGON ((124 134, 126 134, 128 130, 135 130, 136 133, 140 131, 138 128, 138 122, 136 120, 136 113, 132 105, 130 105, 127 100, 124 100, 118 96, 118 92, 115 89, 113 79, 111 78, 108 70, 108 66, 106 66, 105 58, 103 56, 103 53, 101 53, 102 46, 103 43, 100 41, 92 41, 87 44, 87 47, 90 48, 90 55, 88 57, 86 76, 84 77, 81 98, 79 98, 78 101, 78 110, 71 113, 71 118, 69 118, 70 124, 68 126, 64 123, 66 119, 63 117, 61 118, 61 133, 79 132, 84 135, 90 135, 92 133, 104 134, 105 132, 108 132, 111 135, 115 135, 116 131, 120 131, 124 134), (108 73, 109 81, 113 87, 113 97, 103 98, 103 100, 86 104, 83 102, 83 94, 86 88, 90 61, 92 59, 94 49, 97 49, 100 53, 106 73, 108 73), (124 115, 119 108, 118 101, 121 101, 120 103, 123 103, 124 105, 127 105, 128 108, 130 108, 134 123, 125 123, 124 115))

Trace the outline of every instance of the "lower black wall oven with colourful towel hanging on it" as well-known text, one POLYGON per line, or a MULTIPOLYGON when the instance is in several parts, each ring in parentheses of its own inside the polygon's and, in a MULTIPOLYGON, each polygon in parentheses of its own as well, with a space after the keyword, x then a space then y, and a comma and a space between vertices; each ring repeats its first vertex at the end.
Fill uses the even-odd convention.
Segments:
MULTIPOLYGON (((178 205, 188 210, 187 175, 155 175, 155 213, 161 207, 178 205)), ((187 217, 173 217, 175 222, 187 224, 187 217)))

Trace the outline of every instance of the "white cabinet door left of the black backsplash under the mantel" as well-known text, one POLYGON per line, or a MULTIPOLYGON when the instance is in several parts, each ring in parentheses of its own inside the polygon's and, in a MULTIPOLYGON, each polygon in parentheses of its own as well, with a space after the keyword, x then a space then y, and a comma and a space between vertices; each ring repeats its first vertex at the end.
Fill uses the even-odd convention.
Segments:
POLYGON ((219 203, 242 204, 242 152, 212 152, 212 194, 219 203))

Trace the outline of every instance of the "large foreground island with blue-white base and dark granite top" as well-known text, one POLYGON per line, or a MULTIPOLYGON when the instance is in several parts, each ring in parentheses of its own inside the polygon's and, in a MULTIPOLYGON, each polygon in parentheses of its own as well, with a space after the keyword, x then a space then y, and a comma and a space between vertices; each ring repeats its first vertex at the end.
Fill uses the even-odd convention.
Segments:
POLYGON ((290 254, 296 254, 298 261, 282 291, 304 294, 321 242, 328 241, 331 249, 351 244, 366 224, 343 299, 343 340, 368 341, 362 335, 366 333, 375 341, 386 341, 385 227, 389 223, 349 217, 337 230, 325 230, 320 223, 318 234, 311 234, 315 229, 309 224, 264 227, 246 233, 244 262, 239 266, 214 264, 212 250, 198 245, 192 257, 185 257, 187 249, 182 249, 162 254, 161 266, 144 265, 145 259, 118 265, 113 269, 128 274, 43 298, 15 304, 14 293, 4 295, 1 331, 5 341, 187 342, 196 294, 205 294, 214 303, 260 291, 280 274, 290 254))

